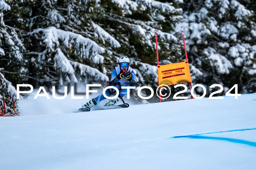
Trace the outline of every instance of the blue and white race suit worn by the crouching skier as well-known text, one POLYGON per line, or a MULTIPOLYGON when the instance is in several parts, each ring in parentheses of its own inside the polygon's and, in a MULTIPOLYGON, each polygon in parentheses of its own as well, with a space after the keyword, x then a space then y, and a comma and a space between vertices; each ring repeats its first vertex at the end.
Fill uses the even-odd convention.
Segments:
MULTIPOLYGON (((131 81, 136 81, 136 76, 135 76, 135 73, 133 72, 133 70, 131 68, 128 68, 127 71, 130 71, 131 72, 131 76, 132 76, 132 80, 131 81)), ((118 74, 120 74, 121 72, 121 69, 120 67, 115 67, 115 69, 113 69, 112 71, 112 76, 111 76, 111 80, 114 80, 118 74)), ((117 79, 117 81, 114 83, 114 85, 112 85, 114 87, 116 87, 118 90, 119 90, 119 95, 118 97, 119 98, 122 98, 125 96, 125 94, 127 94, 127 90, 130 90, 130 89, 121 89, 122 86, 134 86, 131 82, 129 82, 126 78, 122 78, 122 79, 117 79)), ((116 93, 116 90, 115 89, 107 89, 106 90, 106 96, 110 96, 112 94, 116 93)), ((95 102, 96 103, 99 103, 100 101, 106 99, 106 97, 103 96, 103 94, 99 95, 98 97, 95 98, 95 102)))

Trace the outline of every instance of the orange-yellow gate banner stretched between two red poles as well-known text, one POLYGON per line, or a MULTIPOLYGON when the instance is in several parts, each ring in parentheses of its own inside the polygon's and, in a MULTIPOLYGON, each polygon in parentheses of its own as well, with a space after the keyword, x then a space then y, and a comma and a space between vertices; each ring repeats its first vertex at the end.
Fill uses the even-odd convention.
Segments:
POLYGON ((167 86, 191 82, 188 60, 180 63, 157 65, 158 85, 167 86))

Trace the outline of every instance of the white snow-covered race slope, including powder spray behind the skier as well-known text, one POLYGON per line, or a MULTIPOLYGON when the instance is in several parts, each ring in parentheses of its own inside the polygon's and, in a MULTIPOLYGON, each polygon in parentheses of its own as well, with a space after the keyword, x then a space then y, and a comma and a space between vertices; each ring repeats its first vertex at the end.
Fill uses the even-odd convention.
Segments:
POLYGON ((84 100, 41 98, 0 117, 0 169, 256 167, 256 93, 82 113, 84 100))

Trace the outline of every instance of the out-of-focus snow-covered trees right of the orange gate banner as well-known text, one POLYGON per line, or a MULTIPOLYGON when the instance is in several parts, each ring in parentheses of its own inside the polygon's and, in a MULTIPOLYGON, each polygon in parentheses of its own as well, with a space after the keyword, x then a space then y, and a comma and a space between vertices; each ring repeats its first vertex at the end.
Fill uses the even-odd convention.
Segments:
POLYGON ((212 84, 224 86, 222 95, 234 84, 241 93, 256 92, 255 1, 184 0, 182 8, 176 30, 185 27, 193 83, 205 85, 207 95, 212 84))

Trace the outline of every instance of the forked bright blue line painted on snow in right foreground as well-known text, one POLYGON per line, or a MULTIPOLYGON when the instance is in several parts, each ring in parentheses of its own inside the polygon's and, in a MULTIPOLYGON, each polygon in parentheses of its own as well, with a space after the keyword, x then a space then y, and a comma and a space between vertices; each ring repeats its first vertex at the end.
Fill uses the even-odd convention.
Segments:
MULTIPOLYGON (((222 132, 247 131, 247 130, 256 130, 256 128, 252 128, 252 129, 240 129, 240 130, 231 130, 231 131, 222 131, 222 132)), ((210 133, 204 133, 204 134, 214 134, 214 133, 222 133, 222 132, 210 132, 210 133)), ((228 141, 228 142, 247 144, 247 145, 249 145, 249 146, 254 146, 254 147, 256 147, 256 142, 250 142, 250 141, 246 141, 246 140, 232 139, 232 138, 220 138, 220 137, 211 137, 211 136, 200 136, 200 135, 204 135, 204 134, 187 135, 187 136, 174 136, 174 137, 171 137, 171 138, 192 138, 192 139, 226 140, 226 141, 228 141)))

